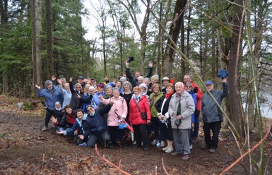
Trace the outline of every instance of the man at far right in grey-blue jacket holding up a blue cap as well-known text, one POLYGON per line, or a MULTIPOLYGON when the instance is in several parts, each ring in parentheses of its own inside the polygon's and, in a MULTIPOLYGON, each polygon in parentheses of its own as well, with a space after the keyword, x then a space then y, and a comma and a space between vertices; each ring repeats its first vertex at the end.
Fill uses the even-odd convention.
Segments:
MULTIPOLYGON (((229 85, 227 84, 226 78, 222 79, 221 84, 223 85, 223 90, 215 90, 211 80, 208 80, 205 83, 206 88, 220 105, 223 98, 227 97, 229 92, 229 85)), ((218 135, 223 121, 223 114, 213 101, 211 95, 206 92, 206 94, 203 95, 201 102, 203 131, 206 143, 201 149, 208 149, 209 152, 213 153, 218 148, 218 135), (211 138, 211 131, 213 132, 213 138, 211 138)))

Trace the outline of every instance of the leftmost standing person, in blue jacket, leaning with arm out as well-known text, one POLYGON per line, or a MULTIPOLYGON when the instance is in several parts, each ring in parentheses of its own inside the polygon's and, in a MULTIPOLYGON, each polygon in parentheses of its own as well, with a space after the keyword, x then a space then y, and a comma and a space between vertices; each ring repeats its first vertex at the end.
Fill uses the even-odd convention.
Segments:
MULTIPOLYGON (((56 85, 53 85, 51 80, 45 81, 45 89, 41 90, 39 85, 35 85, 37 87, 37 93, 39 97, 45 97, 46 106, 53 110, 55 109, 55 103, 61 102, 61 93, 59 91, 59 87, 56 85)), ((42 131, 48 131, 48 123, 50 121, 50 118, 52 116, 52 113, 49 111, 46 111, 45 114, 45 126, 42 128, 42 131)))

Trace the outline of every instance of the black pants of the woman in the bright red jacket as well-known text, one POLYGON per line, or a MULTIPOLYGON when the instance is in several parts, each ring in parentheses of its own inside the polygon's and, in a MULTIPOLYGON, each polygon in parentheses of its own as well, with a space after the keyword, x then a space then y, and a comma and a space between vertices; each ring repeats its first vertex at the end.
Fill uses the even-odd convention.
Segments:
POLYGON ((134 125, 134 137, 136 144, 141 146, 141 140, 143 140, 143 146, 148 147, 148 134, 146 133, 146 124, 134 125))

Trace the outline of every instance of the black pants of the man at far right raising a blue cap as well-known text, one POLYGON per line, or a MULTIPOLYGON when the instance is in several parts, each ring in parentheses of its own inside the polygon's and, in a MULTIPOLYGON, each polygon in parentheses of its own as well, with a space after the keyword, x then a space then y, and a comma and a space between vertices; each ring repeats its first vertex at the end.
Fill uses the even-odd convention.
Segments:
POLYGON ((205 143, 208 148, 217 149, 218 147, 218 135, 221 128, 222 121, 216 121, 211 123, 204 122, 203 131, 205 135, 205 143), (211 131, 213 132, 213 138, 211 138, 211 131))

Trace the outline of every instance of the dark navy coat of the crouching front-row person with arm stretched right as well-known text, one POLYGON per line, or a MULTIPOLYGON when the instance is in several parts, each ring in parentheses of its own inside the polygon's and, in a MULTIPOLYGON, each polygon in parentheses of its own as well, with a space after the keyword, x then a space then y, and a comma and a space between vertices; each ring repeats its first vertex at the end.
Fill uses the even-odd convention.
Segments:
POLYGON ((86 117, 85 120, 82 121, 82 127, 85 131, 83 133, 84 138, 88 138, 90 134, 101 135, 106 131, 107 124, 103 116, 110 111, 111 107, 111 104, 107 104, 107 106, 102 107, 101 109, 95 109, 95 114, 93 116, 84 114, 86 117))

